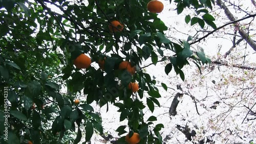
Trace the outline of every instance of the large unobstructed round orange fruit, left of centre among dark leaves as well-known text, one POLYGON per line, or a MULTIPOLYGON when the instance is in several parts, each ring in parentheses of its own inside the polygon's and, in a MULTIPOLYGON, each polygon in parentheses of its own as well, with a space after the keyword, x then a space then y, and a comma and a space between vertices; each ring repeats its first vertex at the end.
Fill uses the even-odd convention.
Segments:
POLYGON ((75 60, 74 60, 74 65, 77 68, 88 68, 90 67, 92 61, 91 59, 84 54, 79 55, 75 60))

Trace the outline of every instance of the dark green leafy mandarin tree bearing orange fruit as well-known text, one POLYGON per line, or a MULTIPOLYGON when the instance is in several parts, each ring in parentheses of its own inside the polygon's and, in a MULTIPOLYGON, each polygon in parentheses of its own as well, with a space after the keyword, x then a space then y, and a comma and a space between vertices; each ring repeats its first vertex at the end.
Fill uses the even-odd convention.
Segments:
MULTIPOLYGON (((167 27, 155 13, 160 11, 148 11, 148 2, 0 1, 0 92, 8 95, 1 97, 1 143, 90 141, 94 132, 103 135, 93 102, 115 105, 120 121, 127 120, 117 129, 118 143, 125 143, 122 134, 127 132, 139 137, 129 137, 139 143, 162 143, 163 125, 152 126, 154 116, 143 118, 142 101, 153 112, 161 95, 156 81, 142 71, 142 61, 166 61, 165 73, 173 68, 184 80, 182 67, 188 59, 199 68, 210 60, 203 51, 191 51, 187 41, 166 38, 167 27), (131 85, 129 90, 135 81, 135 89, 131 85), (79 94, 86 99, 77 105, 79 94), (6 119, 4 112, 9 113, 6 119), (8 126, 7 138, 3 125, 8 126)), ((178 13, 211 4, 179 2, 178 13)))

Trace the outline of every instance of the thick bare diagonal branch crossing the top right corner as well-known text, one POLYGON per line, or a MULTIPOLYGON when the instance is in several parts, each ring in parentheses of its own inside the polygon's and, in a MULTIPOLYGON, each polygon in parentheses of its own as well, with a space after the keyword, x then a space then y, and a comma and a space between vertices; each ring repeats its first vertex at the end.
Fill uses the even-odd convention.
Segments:
MULTIPOLYGON (((229 9, 226 7, 226 5, 221 0, 217 0, 216 3, 217 3, 218 6, 220 6, 224 10, 228 19, 231 20, 237 28, 239 28, 238 33, 242 36, 242 38, 244 40, 246 40, 246 42, 252 47, 252 49, 254 51, 256 51, 256 43, 249 37, 249 35, 244 30, 240 29, 241 26, 238 23, 238 20, 236 20, 236 18, 234 18, 233 14, 229 11, 229 9)), ((247 18, 249 18, 249 17, 254 18, 255 15, 256 14, 249 15, 249 16, 247 16, 247 18)), ((246 19, 246 17, 244 17, 244 18, 246 19)), ((241 20, 239 20, 239 21, 241 21, 241 20)))

